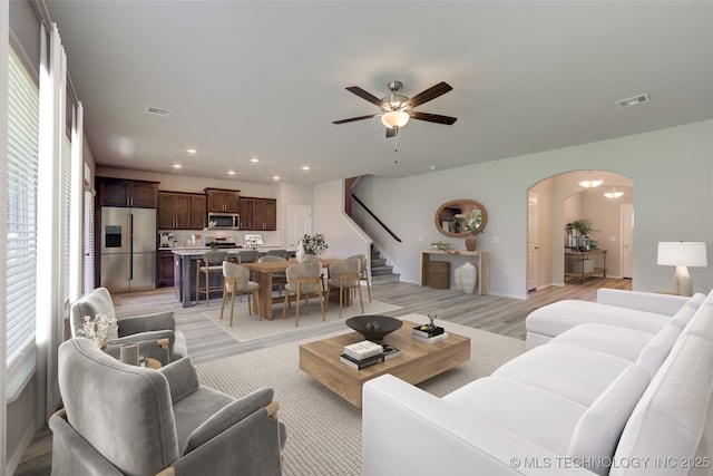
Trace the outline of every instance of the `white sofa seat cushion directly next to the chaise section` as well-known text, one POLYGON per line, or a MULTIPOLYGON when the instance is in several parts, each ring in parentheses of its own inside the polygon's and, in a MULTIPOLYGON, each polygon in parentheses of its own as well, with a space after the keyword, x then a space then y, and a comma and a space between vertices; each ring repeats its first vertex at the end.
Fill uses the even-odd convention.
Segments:
POLYGON ((554 338, 550 343, 566 343, 597 350, 636 362, 639 353, 654 338, 651 332, 608 324, 582 324, 554 338))

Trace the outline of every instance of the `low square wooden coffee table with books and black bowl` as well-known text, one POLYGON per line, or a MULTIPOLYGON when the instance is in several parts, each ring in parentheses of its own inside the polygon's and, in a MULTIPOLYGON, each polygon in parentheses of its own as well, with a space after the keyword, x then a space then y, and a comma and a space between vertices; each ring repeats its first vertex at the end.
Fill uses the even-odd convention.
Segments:
POLYGON ((300 346, 300 368, 316 381, 361 408, 361 390, 365 381, 391 373, 409 383, 419 383, 459 363, 470 360, 470 339, 448 332, 448 338, 428 343, 411 338, 416 322, 403 326, 387 336, 384 343, 401 350, 399 357, 355 370, 339 360, 344 346, 364 340, 358 332, 348 332, 330 339, 300 346))

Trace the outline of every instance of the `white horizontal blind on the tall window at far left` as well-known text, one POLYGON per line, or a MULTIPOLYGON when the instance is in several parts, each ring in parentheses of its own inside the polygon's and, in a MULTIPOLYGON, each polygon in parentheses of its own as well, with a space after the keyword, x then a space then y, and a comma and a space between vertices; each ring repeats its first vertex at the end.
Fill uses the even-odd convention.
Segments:
POLYGON ((10 48, 8 61, 7 368, 35 343, 39 90, 10 48))

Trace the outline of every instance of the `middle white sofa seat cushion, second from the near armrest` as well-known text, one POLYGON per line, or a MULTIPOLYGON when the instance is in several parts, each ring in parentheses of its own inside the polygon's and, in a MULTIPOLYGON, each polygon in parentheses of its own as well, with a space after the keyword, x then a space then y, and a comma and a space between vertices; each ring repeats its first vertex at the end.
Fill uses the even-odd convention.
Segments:
POLYGON ((632 365, 619 357, 548 343, 501 366, 492 375, 561 395, 589 407, 632 365))

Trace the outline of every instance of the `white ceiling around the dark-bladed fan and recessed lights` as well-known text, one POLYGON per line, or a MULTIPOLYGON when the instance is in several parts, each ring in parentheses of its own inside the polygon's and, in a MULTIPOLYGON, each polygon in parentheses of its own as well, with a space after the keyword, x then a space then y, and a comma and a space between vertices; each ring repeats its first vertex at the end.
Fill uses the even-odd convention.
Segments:
POLYGON ((49 0, 97 164, 314 184, 402 177, 713 118, 710 1, 49 0), (416 110, 394 139, 374 96, 416 110), (648 93, 626 109, 616 100, 648 93), (168 118, 145 113, 170 110, 168 118), (195 157, 188 147, 198 152, 195 157), (256 157, 258 164, 251 164, 256 157), (303 165, 311 169, 304 172, 303 165))

